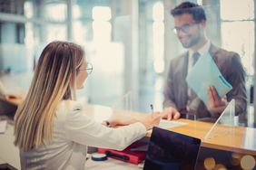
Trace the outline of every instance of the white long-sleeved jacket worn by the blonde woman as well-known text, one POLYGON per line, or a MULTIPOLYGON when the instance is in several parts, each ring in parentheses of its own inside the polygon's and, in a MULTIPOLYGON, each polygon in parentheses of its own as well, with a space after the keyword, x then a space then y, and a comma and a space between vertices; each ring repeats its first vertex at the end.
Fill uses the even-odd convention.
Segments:
POLYGON ((73 100, 60 103, 54 118, 52 141, 32 150, 20 151, 22 169, 84 169, 87 146, 123 150, 144 137, 142 123, 112 128, 88 117, 73 100))

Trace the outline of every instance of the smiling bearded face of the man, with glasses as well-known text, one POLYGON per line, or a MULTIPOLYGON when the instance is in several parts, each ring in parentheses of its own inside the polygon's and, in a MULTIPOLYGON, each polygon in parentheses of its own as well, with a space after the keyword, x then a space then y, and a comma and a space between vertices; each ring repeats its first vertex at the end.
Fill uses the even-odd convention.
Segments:
POLYGON ((204 24, 204 22, 199 24, 195 23, 192 14, 174 16, 174 28, 184 48, 192 48, 201 41, 204 24))

